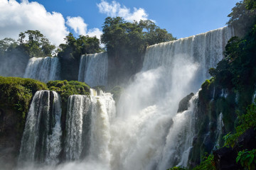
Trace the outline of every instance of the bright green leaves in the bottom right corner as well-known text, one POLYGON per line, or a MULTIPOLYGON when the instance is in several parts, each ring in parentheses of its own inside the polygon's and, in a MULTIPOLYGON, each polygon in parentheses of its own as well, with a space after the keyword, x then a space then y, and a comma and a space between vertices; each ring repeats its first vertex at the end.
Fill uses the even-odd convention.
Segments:
POLYGON ((238 157, 235 160, 237 163, 240 164, 251 170, 256 168, 256 149, 252 149, 248 151, 247 149, 238 152, 238 157))

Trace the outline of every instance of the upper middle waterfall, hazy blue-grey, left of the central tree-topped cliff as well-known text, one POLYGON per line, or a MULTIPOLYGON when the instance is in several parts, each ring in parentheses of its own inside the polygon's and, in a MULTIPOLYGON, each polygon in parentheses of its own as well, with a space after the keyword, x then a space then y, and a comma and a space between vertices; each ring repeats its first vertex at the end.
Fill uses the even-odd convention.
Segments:
POLYGON ((80 60, 78 81, 89 86, 107 85, 107 52, 93 55, 82 55, 80 60))

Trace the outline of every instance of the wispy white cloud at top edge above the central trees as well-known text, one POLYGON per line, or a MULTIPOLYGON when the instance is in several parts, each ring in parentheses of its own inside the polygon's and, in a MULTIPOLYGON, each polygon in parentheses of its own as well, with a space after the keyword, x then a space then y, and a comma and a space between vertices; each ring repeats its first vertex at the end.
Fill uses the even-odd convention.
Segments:
POLYGON ((108 3, 107 1, 102 0, 100 4, 97 4, 97 7, 99 8, 100 13, 105 13, 107 16, 111 17, 121 16, 126 21, 140 21, 148 19, 148 15, 144 8, 134 8, 133 12, 131 12, 130 8, 121 6, 117 1, 108 3))

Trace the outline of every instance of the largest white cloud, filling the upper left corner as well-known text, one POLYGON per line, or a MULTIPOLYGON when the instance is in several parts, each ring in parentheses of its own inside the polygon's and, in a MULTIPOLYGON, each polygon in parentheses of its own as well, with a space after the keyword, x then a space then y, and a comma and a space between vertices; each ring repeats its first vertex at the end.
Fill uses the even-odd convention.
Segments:
POLYGON ((40 30, 55 45, 68 35, 61 13, 49 13, 37 2, 0 0, 0 38, 17 39, 26 30, 40 30))

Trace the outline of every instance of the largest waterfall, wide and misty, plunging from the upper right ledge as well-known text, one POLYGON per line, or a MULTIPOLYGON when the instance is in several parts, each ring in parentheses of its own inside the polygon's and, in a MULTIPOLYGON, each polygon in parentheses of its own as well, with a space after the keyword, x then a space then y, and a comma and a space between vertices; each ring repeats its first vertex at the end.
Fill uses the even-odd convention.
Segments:
POLYGON ((176 113, 178 102, 210 77, 208 69, 223 58, 232 36, 233 29, 225 27, 146 49, 142 71, 120 96, 112 125, 113 169, 187 165, 192 142, 186 140, 193 138, 187 125, 196 119, 193 106, 176 113))

